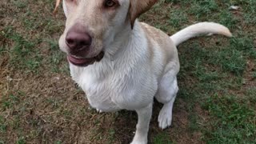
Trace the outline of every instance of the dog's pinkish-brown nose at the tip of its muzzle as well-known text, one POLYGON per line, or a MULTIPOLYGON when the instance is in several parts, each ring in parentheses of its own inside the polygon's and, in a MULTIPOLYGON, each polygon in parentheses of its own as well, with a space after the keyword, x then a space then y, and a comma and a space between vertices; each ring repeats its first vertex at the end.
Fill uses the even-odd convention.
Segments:
POLYGON ((75 24, 66 34, 66 45, 70 50, 80 51, 90 47, 92 38, 84 26, 75 24))

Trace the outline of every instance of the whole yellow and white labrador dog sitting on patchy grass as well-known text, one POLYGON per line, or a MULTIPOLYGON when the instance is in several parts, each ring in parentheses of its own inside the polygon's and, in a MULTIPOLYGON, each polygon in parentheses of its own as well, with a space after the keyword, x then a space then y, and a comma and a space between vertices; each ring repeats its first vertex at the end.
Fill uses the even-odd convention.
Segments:
MULTIPOLYGON (((58 0, 58 4, 59 4, 58 0)), ((70 73, 100 112, 135 110, 137 130, 132 144, 146 144, 154 98, 164 105, 159 127, 172 121, 178 92, 176 46, 199 34, 230 30, 213 22, 189 26, 169 37, 137 18, 158 0, 63 0, 66 30, 59 39, 70 73)))

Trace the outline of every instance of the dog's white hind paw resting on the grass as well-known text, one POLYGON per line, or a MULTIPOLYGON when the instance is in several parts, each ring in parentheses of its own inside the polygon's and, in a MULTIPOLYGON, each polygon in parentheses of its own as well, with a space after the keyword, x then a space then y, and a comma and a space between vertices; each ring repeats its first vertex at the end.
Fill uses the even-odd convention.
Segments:
POLYGON ((167 107, 167 106, 162 107, 162 110, 158 115, 159 127, 162 130, 164 130, 171 125, 171 121, 172 121, 172 110, 170 109, 170 107, 167 107))

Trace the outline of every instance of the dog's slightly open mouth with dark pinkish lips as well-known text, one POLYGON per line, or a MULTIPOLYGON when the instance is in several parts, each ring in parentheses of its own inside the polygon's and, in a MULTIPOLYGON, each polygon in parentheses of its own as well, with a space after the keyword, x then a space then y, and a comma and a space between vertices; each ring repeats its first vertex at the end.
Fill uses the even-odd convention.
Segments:
POLYGON ((98 54, 94 58, 76 58, 73 55, 68 55, 67 59, 69 62, 71 62, 75 66, 89 66, 94 64, 94 62, 100 62, 102 58, 104 57, 104 52, 102 51, 100 54, 98 54))

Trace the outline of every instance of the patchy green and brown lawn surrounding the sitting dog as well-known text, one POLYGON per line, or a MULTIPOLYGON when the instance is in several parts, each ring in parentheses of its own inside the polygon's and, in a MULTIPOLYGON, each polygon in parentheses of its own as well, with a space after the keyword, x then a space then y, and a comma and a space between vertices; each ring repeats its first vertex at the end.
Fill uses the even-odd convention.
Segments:
MULTIPOLYGON (((0 144, 129 143, 137 115, 97 114, 70 79, 58 37, 65 18, 54 0, 0 2, 0 144)), ((256 1, 161 0, 141 18, 167 34, 220 22, 234 38, 194 38, 178 46, 180 91, 172 126, 150 143, 256 142, 256 1), (229 7, 240 6, 239 10, 229 7)))

